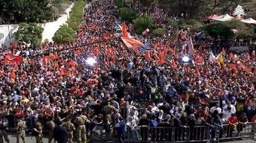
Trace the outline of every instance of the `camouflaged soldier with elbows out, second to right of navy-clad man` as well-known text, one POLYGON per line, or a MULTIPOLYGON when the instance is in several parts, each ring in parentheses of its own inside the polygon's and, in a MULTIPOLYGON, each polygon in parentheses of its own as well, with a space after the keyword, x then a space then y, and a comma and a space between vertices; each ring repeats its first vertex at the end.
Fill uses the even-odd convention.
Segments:
POLYGON ((89 122, 90 121, 87 119, 85 115, 80 115, 79 117, 75 118, 75 124, 78 125, 76 127, 76 130, 78 132, 78 143, 86 143, 87 135, 85 124, 89 122))

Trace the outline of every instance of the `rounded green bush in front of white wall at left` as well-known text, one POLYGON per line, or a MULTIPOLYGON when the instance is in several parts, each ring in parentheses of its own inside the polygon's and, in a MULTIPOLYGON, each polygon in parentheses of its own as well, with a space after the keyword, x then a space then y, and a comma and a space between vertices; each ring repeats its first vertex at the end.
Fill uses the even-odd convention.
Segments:
POLYGON ((44 28, 39 27, 36 23, 20 23, 20 27, 15 32, 15 39, 21 43, 40 46, 44 28))

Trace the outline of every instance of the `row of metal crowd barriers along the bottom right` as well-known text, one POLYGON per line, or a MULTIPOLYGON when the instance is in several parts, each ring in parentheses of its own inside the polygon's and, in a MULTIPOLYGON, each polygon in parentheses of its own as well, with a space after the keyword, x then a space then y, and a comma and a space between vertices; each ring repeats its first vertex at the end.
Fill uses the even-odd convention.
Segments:
POLYGON ((230 129, 223 127, 140 127, 137 130, 127 129, 127 142, 219 142, 228 139, 254 139, 256 123, 230 129))

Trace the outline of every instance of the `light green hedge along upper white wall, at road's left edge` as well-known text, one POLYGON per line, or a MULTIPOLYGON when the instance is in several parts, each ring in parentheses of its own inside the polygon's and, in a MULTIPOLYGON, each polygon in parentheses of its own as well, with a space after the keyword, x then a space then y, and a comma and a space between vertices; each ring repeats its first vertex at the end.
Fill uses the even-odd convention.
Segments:
POLYGON ((84 0, 76 1, 75 6, 72 8, 68 24, 74 31, 78 31, 79 23, 84 18, 84 7, 86 4, 84 0))

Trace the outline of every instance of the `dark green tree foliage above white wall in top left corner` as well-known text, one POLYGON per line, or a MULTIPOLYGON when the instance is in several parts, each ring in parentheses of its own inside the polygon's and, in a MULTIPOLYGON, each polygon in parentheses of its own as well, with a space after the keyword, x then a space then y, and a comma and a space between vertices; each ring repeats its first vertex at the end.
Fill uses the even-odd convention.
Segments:
POLYGON ((50 0, 0 0, 0 16, 5 23, 45 22, 52 18, 50 0))

